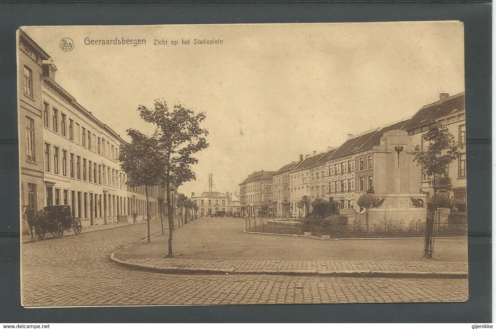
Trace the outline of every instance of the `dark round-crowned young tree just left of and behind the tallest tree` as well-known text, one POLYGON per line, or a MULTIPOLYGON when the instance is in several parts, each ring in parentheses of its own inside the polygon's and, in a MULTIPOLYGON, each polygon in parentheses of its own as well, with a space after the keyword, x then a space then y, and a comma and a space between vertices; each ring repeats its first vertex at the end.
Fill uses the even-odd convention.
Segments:
POLYGON ((150 242, 150 209, 148 203, 148 189, 150 186, 162 183, 163 176, 156 165, 162 155, 157 151, 158 141, 137 130, 128 129, 131 137, 130 144, 121 144, 119 161, 127 174, 126 185, 129 187, 144 186, 146 195, 146 219, 148 228, 148 242, 150 242))

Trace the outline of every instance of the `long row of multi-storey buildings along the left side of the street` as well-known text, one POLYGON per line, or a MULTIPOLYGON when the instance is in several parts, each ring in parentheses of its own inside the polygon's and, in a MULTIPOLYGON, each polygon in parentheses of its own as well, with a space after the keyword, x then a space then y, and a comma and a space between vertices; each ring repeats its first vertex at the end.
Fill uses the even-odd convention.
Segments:
MULTIPOLYGON (((118 161, 126 141, 56 82, 50 56, 22 30, 19 48, 19 145, 28 164, 21 161, 21 204, 70 205, 83 227, 145 220, 145 188, 128 188, 118 161)), ((152 219, 160 189, 149 191, 152 219)))

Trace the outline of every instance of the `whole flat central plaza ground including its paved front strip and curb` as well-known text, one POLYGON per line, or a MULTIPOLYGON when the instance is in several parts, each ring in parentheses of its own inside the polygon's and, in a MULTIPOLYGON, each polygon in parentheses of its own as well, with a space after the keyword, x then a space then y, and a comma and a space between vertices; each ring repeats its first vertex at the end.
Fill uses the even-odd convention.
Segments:
POLYGON ((111 260, 142 271, 175 274, 322 275, 384 278, 467 278, 466 239, 437 242, 435 258, 422 258, 417 239, 324 241, 243 233, 234 219, 198 219, 174 233, 173 259, 166 237, 118 250, 111 260), (304 260, 305 259, 305 260, 304 260))

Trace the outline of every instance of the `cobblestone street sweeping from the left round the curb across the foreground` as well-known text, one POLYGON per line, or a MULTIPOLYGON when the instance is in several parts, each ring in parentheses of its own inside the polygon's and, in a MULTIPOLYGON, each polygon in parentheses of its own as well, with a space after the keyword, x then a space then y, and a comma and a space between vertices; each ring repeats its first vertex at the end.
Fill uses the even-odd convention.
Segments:
MULTIPOLYGON (((158 232, 160 223, 151 226, 158 232)), ((111 252, 145 236, 146 225, 139 224, 23 244, 24 306, 442 302, 468 297, 465 279, 165 275, 129 271, 110 262, 111 252)))

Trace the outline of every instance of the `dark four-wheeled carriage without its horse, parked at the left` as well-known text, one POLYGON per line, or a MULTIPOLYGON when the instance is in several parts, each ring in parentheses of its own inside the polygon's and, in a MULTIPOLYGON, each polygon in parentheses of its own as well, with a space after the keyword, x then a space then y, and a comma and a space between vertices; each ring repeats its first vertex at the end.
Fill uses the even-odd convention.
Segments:
POLYGON ((81 233, 81 221, 77 217, 72 217, 69 205, 55 205, 43 207, 48 217, 43 221, 47 233, 54 237, 63 236, 64 230, 74 230, 76 235, 81 233))

